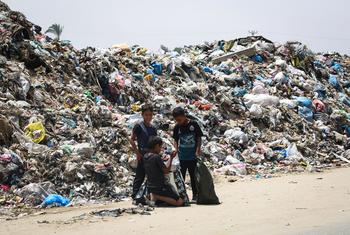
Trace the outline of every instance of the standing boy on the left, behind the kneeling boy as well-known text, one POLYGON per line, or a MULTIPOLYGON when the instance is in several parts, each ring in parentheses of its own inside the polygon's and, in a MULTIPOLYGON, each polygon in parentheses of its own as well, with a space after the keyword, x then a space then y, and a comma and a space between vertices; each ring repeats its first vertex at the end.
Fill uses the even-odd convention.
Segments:
POLYGON ((143 122, 136 124, 132 130, 130 144, 137 156, 136 176, 133 183, 131 197, 135 199, 137 192, 145 180, 145 168, 143 166, 143 156, 147 152, 147 143, 151 136, 157 135, 157 129, 151 124, 153 118, 153 107, 145 104, 141 108, 143 122), (135 144, 137 142, 137 146, 135 144))

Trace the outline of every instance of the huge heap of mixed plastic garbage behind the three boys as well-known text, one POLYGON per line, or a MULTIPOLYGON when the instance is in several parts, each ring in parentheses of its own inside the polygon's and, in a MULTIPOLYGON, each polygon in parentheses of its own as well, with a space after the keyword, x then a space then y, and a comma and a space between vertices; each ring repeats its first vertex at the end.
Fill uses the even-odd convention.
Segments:
POLYGON ((205 132, 203 157, 230 175, 322 170, 350 159, 350 58, 262 36, 154 53, 75 49, 0 1, 0 204, 46 196, 120 199, 142 104, 171 149, 171 111, 205 132), (16 195, 16 196, 14 196, 16 195))

